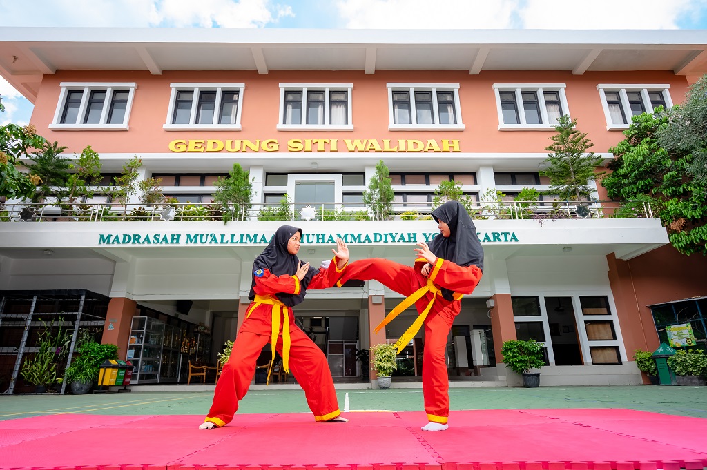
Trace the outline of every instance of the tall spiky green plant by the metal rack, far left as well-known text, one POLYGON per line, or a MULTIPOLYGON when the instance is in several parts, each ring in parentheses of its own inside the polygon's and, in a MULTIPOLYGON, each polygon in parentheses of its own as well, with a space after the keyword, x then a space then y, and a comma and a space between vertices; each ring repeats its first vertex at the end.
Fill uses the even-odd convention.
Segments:
POLYGON ((38 333, 37 351, 25 358, 20 370, 25 382, 34 385, 37 393, 47 392, 49 387, 62 382, 62 378, 57 376, 57 367, 66 356, 70 341, 68 332, 62 327, 62 321, 62 318, 59 318, 58 330, 54 332, 54 320, 47 325, 40 319, 42 328, 38 333))

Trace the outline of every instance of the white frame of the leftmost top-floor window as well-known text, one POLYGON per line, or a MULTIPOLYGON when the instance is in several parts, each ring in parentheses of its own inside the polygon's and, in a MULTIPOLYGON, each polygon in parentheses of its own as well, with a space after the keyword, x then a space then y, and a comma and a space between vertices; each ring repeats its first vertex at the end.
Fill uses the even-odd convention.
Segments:
POLYGON ((130 120, 130 110, 132 109, 132 103, 135 97, 135 89, 137 88, 136 83, 62 82, 59 83, 59 86, 62 90, 59 92, 57 110, 54 112, 52 123, 49 124, 49 128, 52 129, 52 131, 127 131, 129 129, 128 122, 130 120), (64 107, 66 105, 66 97, 69 95, 69 91, 78 90, 83 90, 83 95, 81 96, 81 104, 78 107, 77 122, 73 124, 62 124, 62 114, 64 113, 64 107), (93 91, 105 91, 105 101, 103 102, 103 111, 100 115, 100 123, 83 124, 81 121, 83 121, 83 118, 86 116, 88 98, 90 97, 90 92, 93 91), (114 91, 129 92, 128 102, 125 107, 125 115, 123 116, 122 123, 108 124, 108 113, 110 111, 110 103, 114 91))

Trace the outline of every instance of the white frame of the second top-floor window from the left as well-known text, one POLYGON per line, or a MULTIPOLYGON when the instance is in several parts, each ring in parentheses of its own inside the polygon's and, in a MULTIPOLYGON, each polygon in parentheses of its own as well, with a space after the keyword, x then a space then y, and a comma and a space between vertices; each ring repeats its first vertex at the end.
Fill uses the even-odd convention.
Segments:
POLYGON ((162 128, 165 131, 190 131, 190 130, 205 130, 205 131, 240 131, 240 116, 243 112, 243 92, 245 83, 170 83, 170 106, 167 110, 167 119, 162 128), (177 92, 193 91, 192 97, 192 115, 189 117, 188 124, 173 124, 172 119, 177 100, 177 92), (214 120, 209 124, 197 124, 197 108, 199 107, 199 92, 215 91, 216 105, 214 107, 214 120), (238 109, 235 112, 235 123, 219 124, 219 107, 221 106, 221 94, 224 91, 238 92, 238 109))

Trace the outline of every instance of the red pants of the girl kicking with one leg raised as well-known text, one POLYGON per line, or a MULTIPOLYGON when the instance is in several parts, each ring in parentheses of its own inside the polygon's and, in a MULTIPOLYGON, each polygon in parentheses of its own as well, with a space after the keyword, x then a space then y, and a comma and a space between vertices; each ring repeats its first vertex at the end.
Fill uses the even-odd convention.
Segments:
MULTIPOLYGON (((375 279, 388 289, 406 297, 427 285, 427 278, 416 273, 412 267, 383 258, 349 263, 339 282, 343 284, 349 279, 375 279)), ((431 299, 432 294, 428 293, 415 303, 418 313, 426 308, 431 299)), ((425 319, 422 393, 427 418, 436 423, 447 423, 449 416, 449 375, 445 351, 452 322, 459 314, 460 308, 460 301, 450 302, 438 297, 425 319)))

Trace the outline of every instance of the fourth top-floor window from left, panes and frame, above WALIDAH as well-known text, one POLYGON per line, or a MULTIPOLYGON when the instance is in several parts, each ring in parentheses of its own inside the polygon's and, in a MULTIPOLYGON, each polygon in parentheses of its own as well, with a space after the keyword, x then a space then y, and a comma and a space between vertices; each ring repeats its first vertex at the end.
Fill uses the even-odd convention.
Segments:
POLYGON ((462 131, 458 83, 388 83, 390 131, 462 131))

